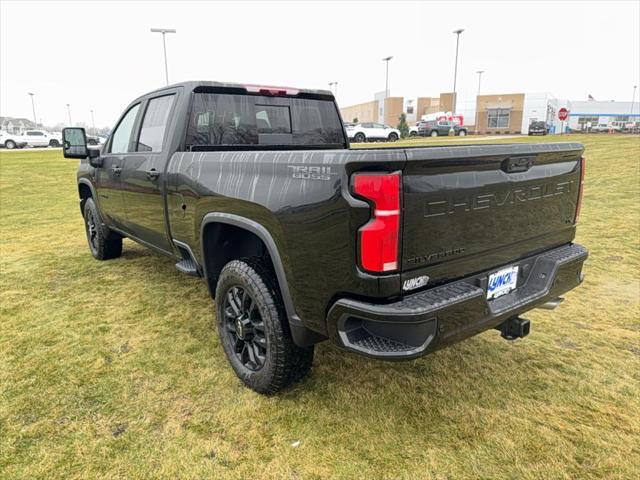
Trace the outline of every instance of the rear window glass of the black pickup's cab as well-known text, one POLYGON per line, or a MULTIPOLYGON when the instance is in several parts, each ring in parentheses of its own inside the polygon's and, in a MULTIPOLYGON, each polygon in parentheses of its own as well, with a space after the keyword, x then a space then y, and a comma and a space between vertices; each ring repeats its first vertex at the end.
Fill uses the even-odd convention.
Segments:
POLYGON ((345 147, 334 102, 247 94, 193 94, 187 150, 278 146, 345 147))

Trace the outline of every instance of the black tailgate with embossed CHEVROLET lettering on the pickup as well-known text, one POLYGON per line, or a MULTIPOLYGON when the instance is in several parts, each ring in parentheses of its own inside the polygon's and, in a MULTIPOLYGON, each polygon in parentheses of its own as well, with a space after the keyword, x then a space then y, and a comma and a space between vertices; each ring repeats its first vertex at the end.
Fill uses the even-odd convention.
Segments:
POLYGON ((402 276, 429 285, 571 242, 577 143, 407 149, 402 276))

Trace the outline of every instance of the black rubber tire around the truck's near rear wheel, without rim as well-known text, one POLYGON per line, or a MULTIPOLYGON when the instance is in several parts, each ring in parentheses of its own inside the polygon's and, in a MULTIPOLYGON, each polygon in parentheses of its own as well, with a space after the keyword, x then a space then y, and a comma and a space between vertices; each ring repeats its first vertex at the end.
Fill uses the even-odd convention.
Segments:
POLYGON ((252 390, 272 395, 300 380, 311 369, 313 346, 298 347, 291 337, 289 320, 270 265, 250 257, 227 263, 216 287, 216 324, 220 341, 236 375, 252 390), (234 287, 244 289, 255 302, 261 316, 267 342, 264 364, 259 369, 245 366, 236 353, 233 339, 226 329, 225 297, 234 287))

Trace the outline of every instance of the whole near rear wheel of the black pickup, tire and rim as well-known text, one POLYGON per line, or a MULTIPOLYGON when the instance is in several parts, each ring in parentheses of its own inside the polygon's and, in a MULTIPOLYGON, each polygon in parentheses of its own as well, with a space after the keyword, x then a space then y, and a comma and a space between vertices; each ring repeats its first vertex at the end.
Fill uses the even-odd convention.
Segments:
POLYGON ((311 369, 313 346, 293 342, 277 281, 260 259, 224 266, 216 287, 216 317, 227 359, 252 390, 277 393, 311 369))

